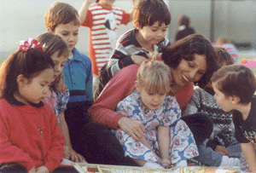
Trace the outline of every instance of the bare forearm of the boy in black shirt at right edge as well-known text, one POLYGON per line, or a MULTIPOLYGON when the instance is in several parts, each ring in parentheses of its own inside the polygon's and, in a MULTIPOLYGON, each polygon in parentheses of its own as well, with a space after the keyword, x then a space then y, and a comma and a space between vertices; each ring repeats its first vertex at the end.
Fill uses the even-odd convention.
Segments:
POLYGON ((241 152, 247 159, 247 164, 251 172, 256 172, 256 153, 252 142, 241 143, 241 152))

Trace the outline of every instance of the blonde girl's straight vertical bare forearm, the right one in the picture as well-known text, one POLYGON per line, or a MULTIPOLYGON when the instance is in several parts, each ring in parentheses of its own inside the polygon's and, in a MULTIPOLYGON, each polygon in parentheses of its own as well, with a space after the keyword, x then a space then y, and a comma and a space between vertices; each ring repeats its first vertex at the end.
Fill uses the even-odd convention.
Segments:
POLYGON ((171 164, 169 160, 169 149, 170 149, 170 126, 159 125, 157 128, 157 141, 159 144, 159 151, 161 159, 165 160, 165 164, 171 164), (169 162, 166 162, 169 161, 169 162))

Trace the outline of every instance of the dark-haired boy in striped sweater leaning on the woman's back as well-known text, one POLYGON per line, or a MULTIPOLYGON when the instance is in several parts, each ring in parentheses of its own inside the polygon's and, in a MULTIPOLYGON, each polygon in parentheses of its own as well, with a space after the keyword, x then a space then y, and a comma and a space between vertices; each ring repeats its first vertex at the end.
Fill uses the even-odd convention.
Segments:
POLYGON ((95 99, 102 92, 113 74, 131 64, 141 64, 149 53, 160 52, 170 42, 166 38, 171 14, 163 0, 140 0, 133 13, 135 29, 119 37, 113 55, 99 74, 95 99))

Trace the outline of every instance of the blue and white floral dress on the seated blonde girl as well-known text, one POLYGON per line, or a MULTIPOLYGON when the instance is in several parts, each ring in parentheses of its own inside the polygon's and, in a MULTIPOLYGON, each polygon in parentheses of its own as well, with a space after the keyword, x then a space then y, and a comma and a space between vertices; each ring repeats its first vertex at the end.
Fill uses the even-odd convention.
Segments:
POLYGON ((169 159, 172 164, 198 156, 199 153, 192 132, 189 130, 188 125, 182 119, 179 119, 181 110, 175 97, 166 96, 164 103, 160 107, 156 110, 149 110, 144 106, 139 93, 134 91, 125 100, 119 102, 117 112, 143 122, 146 130, 143 137, 153 148, 154 153, 158 154, 156 156, 142 141, 135 141, 125 131, 121 129, 113 130, 125 150, 125 156, 155 162, 166 167, 159 159, 160 153, 156 130, 158 125, 170 126, 171 146, 169 159))

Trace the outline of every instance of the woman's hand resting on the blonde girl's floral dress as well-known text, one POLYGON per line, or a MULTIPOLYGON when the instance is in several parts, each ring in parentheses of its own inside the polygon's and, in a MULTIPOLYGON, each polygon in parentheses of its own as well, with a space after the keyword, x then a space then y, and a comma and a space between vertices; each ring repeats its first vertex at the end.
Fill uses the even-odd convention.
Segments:
POLYGON ((143 134, 145 133, 145 127, 139 120, 122 117, 119 118, 118 125, 121 130, 124 130, 125 133, 127 133, 136 141, 140 141, 143 137, 143 134))

